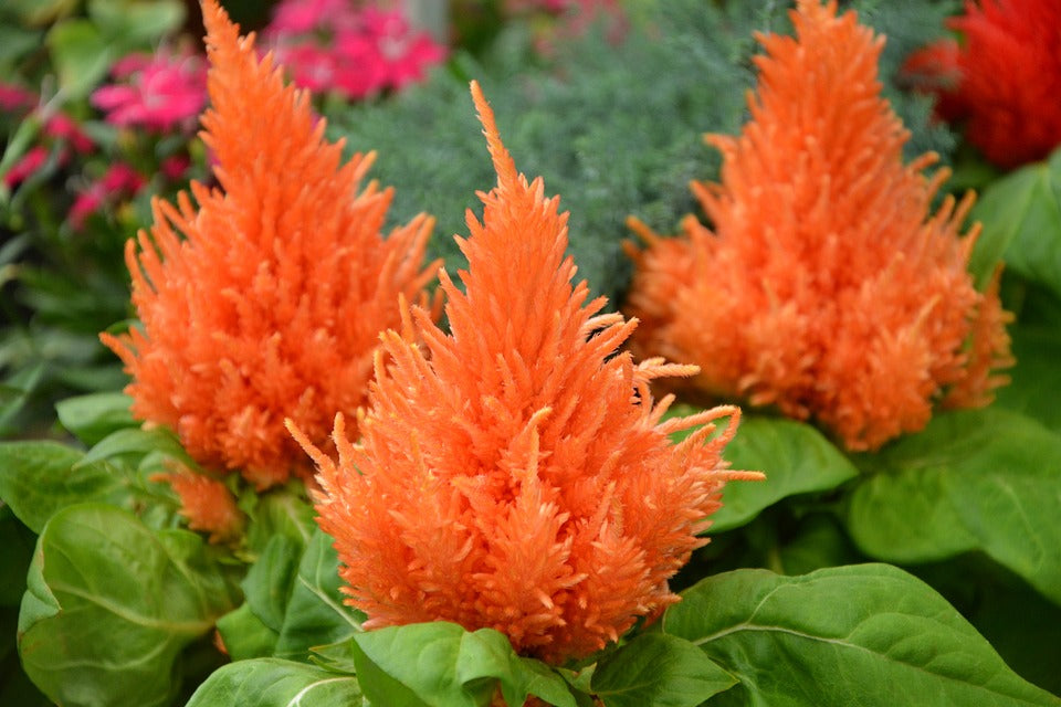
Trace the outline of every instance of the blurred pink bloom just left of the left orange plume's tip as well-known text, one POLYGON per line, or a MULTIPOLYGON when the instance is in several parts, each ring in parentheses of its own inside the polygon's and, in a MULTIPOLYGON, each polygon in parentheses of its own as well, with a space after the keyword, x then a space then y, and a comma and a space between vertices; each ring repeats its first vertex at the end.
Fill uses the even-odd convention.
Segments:
POLYGON ((195 54, 130 54, 111 74, 120 83, 97 88, 92 103, 118 127, 191 127, 207 103, 207 65, 195 54))

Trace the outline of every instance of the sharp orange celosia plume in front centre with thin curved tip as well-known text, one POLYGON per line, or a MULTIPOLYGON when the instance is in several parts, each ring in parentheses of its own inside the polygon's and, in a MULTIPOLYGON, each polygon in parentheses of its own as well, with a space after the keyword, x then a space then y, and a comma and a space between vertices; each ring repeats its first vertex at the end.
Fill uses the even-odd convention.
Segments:
POLYGON ((293 431, 319 467, 319 523, 366 627, 487 626, 558 663, 676 601, 668 579, 706 542, 724 483, 760 475, 719 457, 736 408, 660 422, 671 398, 653 403, 649 381, 695 368, 613 356, 637 323, 572 287, 567 213, 517 175, 472 92, 498 180, 458 239, 466 294, 440 273, 452 334, 414 308, 422 347, 384 335, 364 437, 353 445, 339 418, 337 463, 293 431))

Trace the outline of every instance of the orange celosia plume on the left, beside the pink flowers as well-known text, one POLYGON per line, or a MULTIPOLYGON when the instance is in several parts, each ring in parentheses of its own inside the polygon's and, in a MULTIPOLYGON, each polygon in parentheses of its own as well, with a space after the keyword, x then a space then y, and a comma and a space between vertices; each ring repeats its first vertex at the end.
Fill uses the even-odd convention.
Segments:
POLYGON ((187 194, 155 201, 151 234, 126 247, 143 330, 102 338, 133 374, 137 416, 172 428, 201 464, 267 487, 308 472, 285 418, 324 441, 335 413, 363 402, 398 296, 419 297, 433 276, 421 268, 432 220, 384 240, 391 190, 358 193, 374 155, 340 166, 308 95, 258 60, 216 0, 203 15, 202 137, 222 189, 193 182, 198 210, 187 194))

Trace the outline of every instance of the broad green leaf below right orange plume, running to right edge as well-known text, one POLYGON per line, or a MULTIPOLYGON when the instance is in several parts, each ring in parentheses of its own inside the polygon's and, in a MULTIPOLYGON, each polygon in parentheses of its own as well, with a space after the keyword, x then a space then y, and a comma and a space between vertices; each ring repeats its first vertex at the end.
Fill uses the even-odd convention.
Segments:
POLYGON ((1061 603, 1061 436, 997 408, 937 415, 860 463, 848 528, 901 563, 983 550, 1061 603))

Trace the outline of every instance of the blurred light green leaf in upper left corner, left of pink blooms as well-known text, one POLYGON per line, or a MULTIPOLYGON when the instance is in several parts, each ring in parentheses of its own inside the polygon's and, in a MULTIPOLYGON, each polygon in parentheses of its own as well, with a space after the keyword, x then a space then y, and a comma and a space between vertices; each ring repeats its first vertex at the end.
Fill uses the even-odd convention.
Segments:
POLYGON ((54 25, 45 40, 59 85, 67 99, 83 98, 95 87, 118 55, 118 50, 88 20, 66 20, 54 25))

